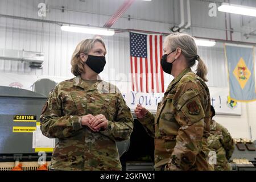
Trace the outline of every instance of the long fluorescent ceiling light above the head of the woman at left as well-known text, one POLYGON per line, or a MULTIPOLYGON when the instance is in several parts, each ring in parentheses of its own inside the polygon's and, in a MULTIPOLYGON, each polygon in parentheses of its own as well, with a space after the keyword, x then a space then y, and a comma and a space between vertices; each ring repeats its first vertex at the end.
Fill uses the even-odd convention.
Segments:
POLYGON ((107 35, 107 36, 112 36, 115 34, 114 30, 109 30, 107 28, 80 27, 80 26, 61 26, 60 28, 62 31, 78 32, 82 34, 107 35))

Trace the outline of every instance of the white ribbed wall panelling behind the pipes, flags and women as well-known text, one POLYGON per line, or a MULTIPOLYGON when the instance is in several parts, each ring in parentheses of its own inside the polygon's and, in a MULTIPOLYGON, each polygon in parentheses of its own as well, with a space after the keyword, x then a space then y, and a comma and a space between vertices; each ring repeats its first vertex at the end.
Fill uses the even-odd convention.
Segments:
MULTIPOLYGON (((79 0, 0 0, 0 14, 42 19, 37 15, 37 5, 40 2, 46 2, 49 5, 45 20, 103 26, 124 0, 85 0, 84 2, 79 0), (61 11, 61 6, 64 6, 64 12, 61 11)), ((256 29, 255 18, 226 14, 225 19, 225 14, 220 12, 217 12, 216 17, 210 17, 208 15, 210 2, 212 1, 191 0, 192 26, 186 32, 205 38, 256 43, 256 36, 250 36, 249 39, 243 36, 256 29), (230 33, 230 28, 233 28, 233 33, 230 33)), ((214 2, 224 2, 224 0, 214 2)), ((256 7, 254 0, 230 0, 230 3, 256 7)), ((186 8, 184 10, 186 11, 186 8)), ((113 25, 113 28, 168 33, 170 27, 179 23, 178 0, 152 0, 151 2, 136 0, 113 25)), ((44 53, 42 69, 30 68, 28 63, 0 60, 0 71, 16 73, 17 76, 24 74, 71 78, 73 75, 70 60, 73 50, 81 40, 90 36, 92 35, 61 31, 59 24, 0 16, 0 48, 44 53)), ((102 36, 102 38, 105 40, 108 51, 104 74, 110 76, 109 80, 116 80, 115 75, 118 73, 128 75, 130 73, 129 33, 123 32, 110 37, 102 36)), ((207 84, 218 87, 228 86, 223 44, 217 43, 211 48, 199 47, 199 55, 208 66, 209 82, 207 84)), ((167 74, 164 77, 165 85, 168 85, 172 77, 167 74)), ((255 108, 255 102, 242 104, 241 117, 217 116, 216 120, 228 127, 234 136, 249 138, 249 126, 251 130, 256 131, 255 108)), ((255 132, 253 138, 256 138, 255 132)))

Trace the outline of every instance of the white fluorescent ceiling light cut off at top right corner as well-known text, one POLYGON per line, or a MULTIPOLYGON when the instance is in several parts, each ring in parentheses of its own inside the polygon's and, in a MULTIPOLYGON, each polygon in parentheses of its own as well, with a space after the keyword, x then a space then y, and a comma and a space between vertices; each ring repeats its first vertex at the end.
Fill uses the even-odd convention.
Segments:
POLYGON ((221 3, 221 6, 218 7, 218 11, 247 16, 256 16, 255 7, 234 5, 230 3, 221 3))

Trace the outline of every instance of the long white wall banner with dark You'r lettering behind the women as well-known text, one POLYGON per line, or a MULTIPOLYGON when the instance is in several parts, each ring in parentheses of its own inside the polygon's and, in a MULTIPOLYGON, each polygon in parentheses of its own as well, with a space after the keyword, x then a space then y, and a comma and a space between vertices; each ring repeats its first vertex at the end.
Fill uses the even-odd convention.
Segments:
MULTIPOLYGON (((61 78, 61 77, 49 77, 49 76, 31 76, 31 75, 19 75, 16 74, 2 74, 0 73, 2 86, 11 86, 13 82, 19 83, 22 89, 32 90, 32 85, 35 81, 40 78, 50 78, 55 82, 60 82, 70 78, 61 78)), ((116 84, 118 88, 122 90, 123 97, 125 98, 126 104, 130 107, 131 110, 134 110, 137 104, 141 104, 146 107, 148 110, 153 113, 156 112, 156 107, 158 102, 163 98, 163 93, 138 93, 133 92, 129 89, 126 89, 127 85, 122 83, 116 84), (125 91, 123 91, 125 90, 125 91)), ((129 87, 129 86, 128 86, 129 87)), ((216 114, 223 115, 241 115, 241 103, 233 101, 229 98, 229 89, 228 88, 215 88, 210 87, 210 102, 214 106, 216 114)))

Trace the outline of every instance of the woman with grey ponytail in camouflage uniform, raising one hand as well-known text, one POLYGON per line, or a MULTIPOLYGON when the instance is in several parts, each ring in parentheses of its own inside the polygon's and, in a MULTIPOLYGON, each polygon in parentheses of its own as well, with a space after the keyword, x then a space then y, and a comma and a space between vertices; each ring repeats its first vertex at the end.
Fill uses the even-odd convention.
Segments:
POLYGON ((163 71, 174 76, 156 115, 138 105, 135 114, 155 138, 156 170, 213 170, 208 163, 210 94, 207 67, 192 36, 171 34, 164 40, 163 71), (197 74, 191 67, 199 61, 197 74))

